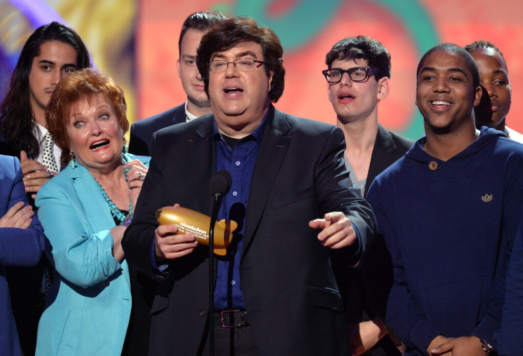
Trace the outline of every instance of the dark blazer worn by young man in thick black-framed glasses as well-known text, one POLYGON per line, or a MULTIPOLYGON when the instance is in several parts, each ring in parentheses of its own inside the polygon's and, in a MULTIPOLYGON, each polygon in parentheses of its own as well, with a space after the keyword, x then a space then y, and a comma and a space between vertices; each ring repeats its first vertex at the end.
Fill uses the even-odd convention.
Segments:
MULTIPOLYGON (((391 164, 403 157, 409 148, 414 144, 413 140, 406 139, 378 124, 376 142, 370 158, 369 173, 365 184, 364 197, 367 197, 369 187, 382 171, 391 164)), ((370 320, 376 316, 374 309, 383 309, 386 303, 386 296, 392 285, 392 274, 388 276, 382 269, 384 254, 384 244, 376 243, 372 247, 371 256, 361 269, 352 269, 347 266, 334 265, 336 279, 346 307, 347 322, 356 324, 363 320, 370 320), (378 257, 379 256, 379 257, 378 257), (338 272, 339 271, 339 272, 338 272), (362 272, 366 273, 365 282, 362 272), (338 277, 340 275, 340 277, 338 277), (347 275, 349 278, 347 279, 347 275), (388 281, 390 277, 390 281, 388 281), (390 283, 390 284, 389 284, 390 283), (372 305, 373 307, 371 307, 372 305)), ((336 261, 335 261, 336 263, 336 261)), ((381 313, 379 313, 381 315, 381 313)), ((401 353, 394 346, 388 336, 385 336, 372 351, 368 354, 378 355, 400 355, 401 353)))

